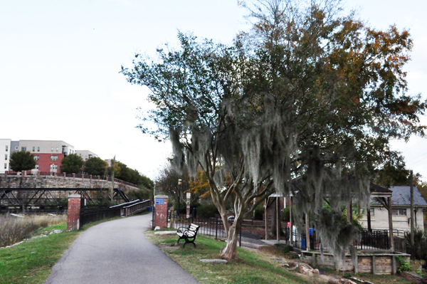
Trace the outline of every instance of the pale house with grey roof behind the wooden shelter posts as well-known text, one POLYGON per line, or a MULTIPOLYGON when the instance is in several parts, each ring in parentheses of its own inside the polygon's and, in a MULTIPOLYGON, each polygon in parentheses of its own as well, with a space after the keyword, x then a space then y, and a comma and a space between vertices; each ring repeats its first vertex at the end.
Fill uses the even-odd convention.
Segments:
MULTIPOLYGON (((391 191, 393 230, 411 230, 411 186, 391 186, 389 190, 391 191)), ((415 228, 424 230, 423 211, 427 209, 427 202, 416 186, 413 187, 413 204, 415 228)), ((389 229, 389 211, 380 198, 372 197, 370 215, 372 229, 389 229)), ((364 228, 368 228, 367 214, 364 214, 360 223, 364 228)))

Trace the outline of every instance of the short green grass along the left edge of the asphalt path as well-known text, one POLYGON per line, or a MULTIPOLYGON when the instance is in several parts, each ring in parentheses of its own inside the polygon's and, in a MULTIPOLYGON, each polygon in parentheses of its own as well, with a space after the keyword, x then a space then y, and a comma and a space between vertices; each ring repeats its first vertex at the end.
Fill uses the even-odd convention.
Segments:
POLYGON ((83 231, 98 223, 115 219, 121 217, 88 223, 82 230, 69 232, 65 231, 66 223, 56 224, 38 229, 35 234, 53 230, 62 230, 63 233, 32 238, 17 246, 0 249, 0 283, 45 283, 53 265, 83 231))

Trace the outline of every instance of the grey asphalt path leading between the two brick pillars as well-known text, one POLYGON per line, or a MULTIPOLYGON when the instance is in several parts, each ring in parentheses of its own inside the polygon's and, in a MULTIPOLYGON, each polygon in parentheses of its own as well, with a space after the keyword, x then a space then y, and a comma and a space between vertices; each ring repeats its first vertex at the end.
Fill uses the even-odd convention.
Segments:
POLYGON ((151 220, 147 214, 88 228, 53 266, 46 284, 199 283, 147 241, 151 220))

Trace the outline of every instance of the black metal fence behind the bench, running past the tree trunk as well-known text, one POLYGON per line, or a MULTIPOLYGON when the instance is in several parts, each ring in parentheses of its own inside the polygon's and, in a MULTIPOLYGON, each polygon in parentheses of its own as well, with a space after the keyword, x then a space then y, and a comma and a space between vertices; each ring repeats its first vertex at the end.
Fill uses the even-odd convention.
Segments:
MULTIPOLYGON (((186 219, 186 214, 180 214, 179 216, 174 216, 174 228, 179 227, 188 227, 191 223, 199 225, 199 231, 201 235, 206 236, 214 236, 215 238, 226 238, 226 230, 224 228, 222 219, 220 216, 216 216, 215 218, 201 218, 194 216, 195 214, 191 214, 189 219, 186 219)), ((233 223, 232 220, 228 221, 231 225, 233 223)), ((241 246, 242 241, 242 230, 238 232, 238 240, 239 246, 241 246)))

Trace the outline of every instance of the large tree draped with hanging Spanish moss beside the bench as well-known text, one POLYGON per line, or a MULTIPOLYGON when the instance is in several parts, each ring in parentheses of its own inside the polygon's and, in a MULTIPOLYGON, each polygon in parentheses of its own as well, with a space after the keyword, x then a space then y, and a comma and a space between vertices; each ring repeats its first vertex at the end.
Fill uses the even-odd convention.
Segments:
POLYGON ((254 1, 248 9, 253 30, 233 46, 179 33, 178 51, 159 49, 157 61, 136 55, 132 70, 122 68, 157 105, 143 120, 158 128, 139 127, 169 137, 177 169, 206 174, 227 233, 223 258, 236 258, 243 217, 273 191, 292 193, 297 225, 310 216, 322 243, 342 256, 357 233, 342 206, 367 204, 391 139, 424 134, 426 103, 406 95, 402 70, 411 38, 342 15, 339 1, 254 1))

